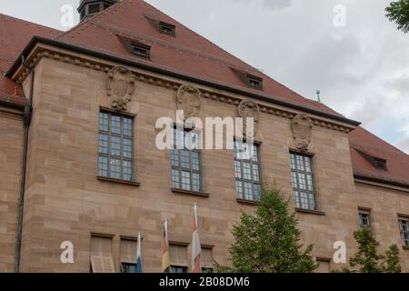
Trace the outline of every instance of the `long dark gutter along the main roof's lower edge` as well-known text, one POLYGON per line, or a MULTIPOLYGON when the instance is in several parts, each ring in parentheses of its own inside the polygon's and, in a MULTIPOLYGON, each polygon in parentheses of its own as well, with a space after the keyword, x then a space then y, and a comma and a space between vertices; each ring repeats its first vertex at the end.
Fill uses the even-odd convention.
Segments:
POLYGON ((144 69, 147 71, 151 71, 157 74, 161 74, 161 75, 168 75, 171 77, 175 77, 175 78, 179 78, 188 82, 193 82, 196 84, 200 84, 200 85, 206 85, 206 86, 211 86, 214 87, 216 89, 221 89, 227 92, 231 92, 234 94, 238 94, 238 95, 246 95, 249 97, 252 97, 254 99, 260 100, 260 101, 264 101, 264 102, 268 102, 268 103, 272 103, 275 105, 282 105, 285 107, 289 107, 295 110, 299 110, 299 111, 304 111, 306 113, 309 114, 313 114, 313 115, 319 115, 319 116, 323 116, 325 118, 329 118, 329 119, 333 119, 335 121, 339 121, 339 122, 344 122, 345 124, 348 125, 353 125, 353 126, 358 126, 361 125, 360 122, 357 122, 355 120, 346 118, 344 116, 339 116, 339 115, 332 115, 320 110, 316 110, 316 109, 312 109, 312 108, 308 108, 308 107, 304 107, 302 105, 295 105, 293 103, 289 103, 283 100, 279 100, 274 98, 273 96, 265 96, 265 95, 259 95, 259 94, 255 94, 255 93, 251 93, 242 89, 238 89, 232 86, 228 86, 228 85, 222 85, 222 84, 218 84, 218 83, 214 83, 212 81, 207 81, 207 80, 203 80, 200 79, 198 77, 195 77, 193 75, 184 75, 181 73, 177 73, 174 71, 170 71, 155 65, 147 65, 147 64, 142 64, 142 63, 137 63, 135 61, 130 61, 127 59, 124 59, 122 57, 117 57, 114 55, 108 55, 105 53, 100 53, 100 52, 96 52, 95 50, 91 50, 91 49, 87 49, 84 47, 80 47, 80 46, 76 46, 76 45, 70 45, 70 44, 66 44, 66 43, 62 43, 62 42, 58 42, 54 39, 48 39, 48 38, 44 38, 44 37, 39 37, 39 36, 34 36, 30 43, 28 45, 25 46, 24 51, 22 52, 22 54, 20 55, 20 57, 15 61, 15 63, 11 66, 11 68, 8 70, 8 72, 5 74, 6 76, 8 76, 9 78, 12 78, 12 75, 15 74, 15 71, 17 70, 17 68, 22 65, 21 64, 21 59, 22 57, 25 57, 27 55, 29 55, 29 53, 31 52, 31 50, 34 48, 34 46, 37 44, 44 44, 44 45, 53 45, 55 47, 58 48, 62 48, 62 49, 66 49, 75 53, 79 53, 79 54, 84 54, 84 55, 91 55, 97 58, 101 58, 101 59, 105 59, 107 61, 110 62, 115 62, 115 63, 119 63, 122 65, 129 65, 129 66, 133 66, 136 68, 140 68, 140 69, 144 69))

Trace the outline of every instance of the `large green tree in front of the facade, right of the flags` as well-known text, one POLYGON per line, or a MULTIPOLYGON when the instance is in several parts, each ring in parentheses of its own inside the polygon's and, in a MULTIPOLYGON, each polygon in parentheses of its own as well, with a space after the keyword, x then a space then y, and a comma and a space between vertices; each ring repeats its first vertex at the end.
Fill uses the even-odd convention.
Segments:
POLYGON ((254 215, 243 213, 240 223, 234 226, 231 271, 311 273, 318 267, 310 256, 313 246, 302 250, 298 222, 294 214, 289 214, 288 206, 289 201, 275 185, 262 190, 254 215))

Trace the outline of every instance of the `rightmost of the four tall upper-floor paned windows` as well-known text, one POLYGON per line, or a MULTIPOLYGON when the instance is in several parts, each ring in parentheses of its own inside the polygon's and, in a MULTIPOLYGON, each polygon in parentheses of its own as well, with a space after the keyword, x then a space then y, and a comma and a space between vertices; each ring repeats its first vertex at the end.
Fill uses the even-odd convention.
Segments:
POLYGON ((290 153, 290 160, 295 206, 306 210, 316 210, 311 156, 290 153))

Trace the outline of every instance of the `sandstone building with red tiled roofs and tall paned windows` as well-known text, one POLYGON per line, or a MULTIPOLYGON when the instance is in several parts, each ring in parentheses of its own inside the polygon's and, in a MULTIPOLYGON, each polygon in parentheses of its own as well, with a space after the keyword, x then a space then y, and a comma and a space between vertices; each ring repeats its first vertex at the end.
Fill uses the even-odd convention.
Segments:
POLYGON ((188 271, 194 204, 206 270, 225 265, 241 211, 274 181, 319 271, 342 267, 336 241, 354 254, 360 224, 409 271, 409 156, 144 1, 116 2, 82 1, 65 33, 0 15, 0 271, 125 271, 141 233, 159 272, 165 218, 171 264, 188 271), (159 150, 156 121, 181 108, 254 116, 256 155, 159 150))

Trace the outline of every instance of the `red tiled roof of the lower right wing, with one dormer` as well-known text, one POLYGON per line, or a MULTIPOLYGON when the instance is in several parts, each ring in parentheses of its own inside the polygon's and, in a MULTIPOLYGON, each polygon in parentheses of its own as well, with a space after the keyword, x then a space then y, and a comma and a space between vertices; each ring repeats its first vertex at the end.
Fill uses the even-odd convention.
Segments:
POLYGON ((404 152, 361 126, 349 134, 349 144, 354 175, 409 186, 409 156, 404 152), (387 171, 373 166, 362 153, 386 160, 387 171))

